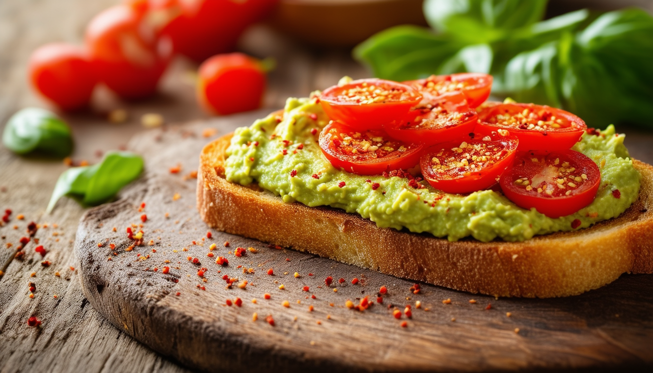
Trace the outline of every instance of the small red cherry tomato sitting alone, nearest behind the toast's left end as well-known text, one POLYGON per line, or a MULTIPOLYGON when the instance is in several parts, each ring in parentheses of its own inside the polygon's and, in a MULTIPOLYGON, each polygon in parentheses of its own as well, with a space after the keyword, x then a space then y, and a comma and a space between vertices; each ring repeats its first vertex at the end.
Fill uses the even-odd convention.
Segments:
POLYGON ((215 114, 244 112, 261 107, 265 86, 259 61, 242 53, 219 54, 200 65, 197 99, 215 114))

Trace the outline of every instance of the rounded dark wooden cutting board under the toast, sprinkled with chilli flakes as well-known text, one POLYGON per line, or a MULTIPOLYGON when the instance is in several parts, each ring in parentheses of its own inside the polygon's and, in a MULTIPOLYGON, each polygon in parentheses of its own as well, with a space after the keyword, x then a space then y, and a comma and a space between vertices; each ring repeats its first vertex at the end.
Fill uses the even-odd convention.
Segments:
POLYGON ((653 366, 650 275, 624 274, 613 284, 564 299, 494 299, 425 284, 414 294, 413 283, 406 280, 208 229, 195 208, 197 180, 187 174, 197 170, 204 144, 264 114, 168 127, 133 138, 129 147, 144 155, 146 172, 118 201, 89 210, 75 242, 86 297, 117 328, 202 370, 653 366), (180 172, 170 173, 177 165, 180 172), (142 203, 146 206, 139 211, 142 203), (140 223, 145 244, 128 251, 132 241, 126 227, 140 223), (211 251, 213 243, 217 247, 211 251), (236 257, 237 247, 253 249, 236 257), (209 252, 227 257, 229 266, 216 265, 209 252), (164 267, 170 268, 167 274, 164 267), (207 268, 203 278, 198 276, 202 267, 207 268), (273 276, 267 274, 270 268, 273 276), (238 278, 231 289, 225 275, 238 278), (334 278, 330 286, 325 285, 327 276, 334 278), (354 278, 358 284, 352 284, 354 278), (245 289, 236 286, 244 280, 245 289), (388 289, 383 304, 364 312, 345 306, 347 300, 358 304, 365 296, 376 300, 381 285, 388 289), (227 305, 236 299, 241 306, 227 305), (395 319, 392 310, 403 311, 407 304, 412 318, 395 319), (402 321, 407 327, 400 326, 402 321))

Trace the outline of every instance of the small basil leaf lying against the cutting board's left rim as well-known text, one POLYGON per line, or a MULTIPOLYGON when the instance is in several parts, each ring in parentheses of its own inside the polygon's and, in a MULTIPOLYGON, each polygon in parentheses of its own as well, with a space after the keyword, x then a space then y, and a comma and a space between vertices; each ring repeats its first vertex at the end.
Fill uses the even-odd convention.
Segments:
POLYGON ((57 180, 46 212, 51 212, 64 195, 76 197, 88 205, 108 201, 142 170, 143 159, 130 152, 108 152, 97 165, 65 170, 57 180))

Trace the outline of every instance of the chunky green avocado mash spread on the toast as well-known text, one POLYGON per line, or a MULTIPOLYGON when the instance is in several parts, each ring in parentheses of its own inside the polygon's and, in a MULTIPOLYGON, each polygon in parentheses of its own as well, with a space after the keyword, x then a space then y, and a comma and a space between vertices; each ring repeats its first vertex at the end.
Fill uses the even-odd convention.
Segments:
POLYGON ((317 144, 319 131, 329 120, 315 99, 288 99, 283 120, 278 122, 278 118, 270 115, 236 130, 227 150, 227 180, 242 185, 257 182, 286 203, 356 212, 379 227, 428 232, 452 241, 467 236, 485 242, 497 237, 522 241, 571 231, 575 219, 581 221, 579 227, 589 227, 614 218, 639 193, 639 172, 629 159, 624 135, 617 135, 612 125, 598 136, 583 135, 574 146, 601 169, 596 199, 575 214, 551 219, 534 208, 519 208, 492 190, 452 195, 428 182, 421 182, 425 188, 416 189, 406 178, 358 176, 335 169, 317 144), (379 186, 373 189, 375 183, 379 186), (614 189, 620 191, 619 198, 614 189))

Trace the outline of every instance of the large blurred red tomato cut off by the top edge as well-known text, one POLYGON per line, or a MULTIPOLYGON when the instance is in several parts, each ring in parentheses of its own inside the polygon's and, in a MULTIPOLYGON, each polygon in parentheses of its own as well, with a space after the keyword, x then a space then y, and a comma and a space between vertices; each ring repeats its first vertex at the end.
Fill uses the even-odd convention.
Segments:
MULTIPOLYGON (((169 1, 169 0, 168 0, 169 1)), ((278 0, 179 1, 180 17, 163 33, 174 50, 198 63, 215 54, 231 52, 247 26, 262 20, 278 0)))

